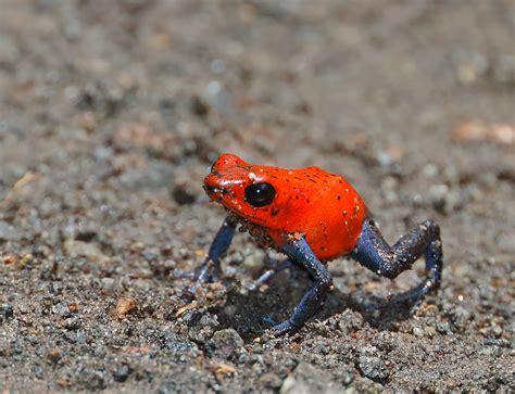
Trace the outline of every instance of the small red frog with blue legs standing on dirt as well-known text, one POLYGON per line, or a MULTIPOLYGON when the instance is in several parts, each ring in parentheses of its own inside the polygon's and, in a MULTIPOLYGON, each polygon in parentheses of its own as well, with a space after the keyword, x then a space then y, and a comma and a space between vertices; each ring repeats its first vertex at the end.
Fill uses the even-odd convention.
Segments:
POLYGON ((272 327, 275 334, 298 330, 321 307, 332 284, 326 263, 339 256, 347 255, 377 275, 393 279, 424 254, 427 276, 405 296, 419 300, 440 284, 443 262, 439 226, 426 220, 389 245, 362 198, 339 175, 318 167, 254 165, 224 154, 205 177, 204 189, 211 200, 226 208, 227 217, 205 263, 196 271, 196 285, 216 280, 221 256, 229 247, 238 224, 259 243, 287 256, 276 270, 294 264, 313 280, 293 314, 272 327))

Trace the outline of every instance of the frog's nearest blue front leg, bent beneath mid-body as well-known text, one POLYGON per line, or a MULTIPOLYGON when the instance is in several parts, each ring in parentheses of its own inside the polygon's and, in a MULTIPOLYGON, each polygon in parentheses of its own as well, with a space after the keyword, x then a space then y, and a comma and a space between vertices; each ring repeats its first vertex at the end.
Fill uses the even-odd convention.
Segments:
POLYGON ((307 270, 313 279, 313 284, 288 320, 272 328, 272 332, 276 335, 286 334, 300 329, 321 307, 327 291, 332 284, 332 278, 327 267, 316 258, 304 237, 300 240, 288 242, 282 247, 282 252, 285 252, 290 259, 307 270))

